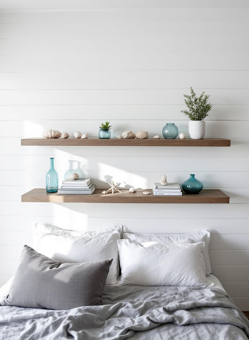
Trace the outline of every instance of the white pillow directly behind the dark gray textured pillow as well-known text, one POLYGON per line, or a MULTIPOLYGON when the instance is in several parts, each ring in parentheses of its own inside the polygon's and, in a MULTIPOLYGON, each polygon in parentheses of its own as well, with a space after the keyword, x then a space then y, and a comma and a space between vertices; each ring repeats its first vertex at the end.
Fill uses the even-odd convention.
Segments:
POLYGON ((36 235, 35 250, 62 263, 100 261, 113 258, 107 275, 106 284, 117 283, 119 275, 118 245, 120 233, 96 236, 68 236, 50 233, 36 235))

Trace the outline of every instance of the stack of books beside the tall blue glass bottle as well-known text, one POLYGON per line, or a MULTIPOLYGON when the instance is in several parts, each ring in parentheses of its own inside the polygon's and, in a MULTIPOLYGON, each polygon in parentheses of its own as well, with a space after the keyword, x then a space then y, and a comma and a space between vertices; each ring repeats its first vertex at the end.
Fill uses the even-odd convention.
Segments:
POLYGON ((94 191, 95 185, 90 178, 79 178, 75 181, 68 178, 62 182, 58 194, 91 195, 94 191))

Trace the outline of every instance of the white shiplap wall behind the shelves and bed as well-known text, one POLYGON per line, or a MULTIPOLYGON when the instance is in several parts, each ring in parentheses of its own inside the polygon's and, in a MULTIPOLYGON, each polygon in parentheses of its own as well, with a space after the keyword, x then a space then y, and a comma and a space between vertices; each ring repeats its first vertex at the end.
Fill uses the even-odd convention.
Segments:
POLYGON ((159 233, 209 227, 213 273, 249 310, 248 2, 1 0, 0 9, 0 283, 31 244, 32 221, 159 233), (49 128, 96 136, 105 120, 112 136, 153 136, 166 122, 187 133, 180 111, 190 86, 212 95, 206 137, 231 138, 230 148, 20 146, 49 128), (230 204, 21 203, 45 186, 50 156, 60 180, 74 169, 98 186, 147 188, 164 173, 172 182, 196 173, 230 204))

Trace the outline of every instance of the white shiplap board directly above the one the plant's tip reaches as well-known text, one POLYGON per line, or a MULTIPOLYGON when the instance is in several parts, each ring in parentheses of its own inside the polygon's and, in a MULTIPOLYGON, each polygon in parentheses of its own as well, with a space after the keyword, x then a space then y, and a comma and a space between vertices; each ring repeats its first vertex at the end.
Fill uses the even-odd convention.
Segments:
MULTIPOLYGON (((1 72, 43 70, 248 70, 248 53, 63 52, 0 55, 1 72), (209 62, 207 64, 206 58, 209 62), (122 61, 122 62, 121 62, 122 61)), ((203 79, 204 81, 204 79, 203 79)), ((220 79, 218 79, 220 81, 220 79)))

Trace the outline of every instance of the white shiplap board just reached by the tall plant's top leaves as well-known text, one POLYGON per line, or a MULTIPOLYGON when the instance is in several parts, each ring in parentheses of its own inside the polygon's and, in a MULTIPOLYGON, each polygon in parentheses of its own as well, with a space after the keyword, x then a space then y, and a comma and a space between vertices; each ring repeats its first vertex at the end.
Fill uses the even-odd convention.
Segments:
MULTIPOLYGON (((75 89, 163 89, 188 88, 191 83, 197 89, 249 88, 249 71, 183 71, 183 70, 134 70, 134 71, 43 71, 2 72, 1 90, 75 90, 75 89)), ((208 90, 209 89, 209 90, 208 90)), ((189 90, 181 90, 189 92, 189 90)), ((184 92, 184 93, 185 93, 184 92)), ((201 92, 201 90, 198 90, 201 92)), ((183 100, 182 100, 183 101, 183 100)))

